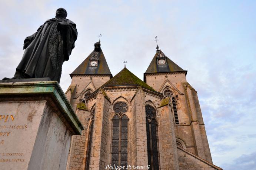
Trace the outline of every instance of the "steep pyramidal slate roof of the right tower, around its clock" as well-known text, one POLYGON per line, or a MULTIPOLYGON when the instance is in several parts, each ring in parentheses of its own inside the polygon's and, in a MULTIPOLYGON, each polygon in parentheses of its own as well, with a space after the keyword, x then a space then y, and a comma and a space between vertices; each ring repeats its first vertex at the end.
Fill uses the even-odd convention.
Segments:
POLYGON ((157 50, 154 58, 152 59, 149 67, 147 67, 146 73, 168 73, 168 72, 186 72, 172 60, 170 60, 161 50, 157 50), (165 58, 167 65, 157 65, 157 58, 165 58))

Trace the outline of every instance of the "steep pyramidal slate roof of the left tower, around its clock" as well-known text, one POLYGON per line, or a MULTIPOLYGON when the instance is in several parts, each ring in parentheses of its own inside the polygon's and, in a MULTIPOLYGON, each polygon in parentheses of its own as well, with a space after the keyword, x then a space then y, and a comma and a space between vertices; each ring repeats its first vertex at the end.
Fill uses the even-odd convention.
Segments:
POLYGON ((70 77, 72 77, 74 74, 107 74, 112 77, 101 48, 99 52, 93 50, 92 53, 90 53, 90 55, 70 74, 70 77), (90 59, 99 59, 98 66, 90 66, 90 59))

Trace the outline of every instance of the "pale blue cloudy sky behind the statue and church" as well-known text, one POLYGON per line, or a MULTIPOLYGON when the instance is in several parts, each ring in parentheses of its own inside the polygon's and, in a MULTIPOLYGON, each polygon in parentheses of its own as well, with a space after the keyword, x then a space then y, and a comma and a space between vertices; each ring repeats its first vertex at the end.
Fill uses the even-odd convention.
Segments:
POLYGON ((0 2, 0 79, 13 77, 24 38, 57 8, 77 24, 78 38, 64 62, 60 86, 101 48, 113 76, 126 67, 143 80, 156 53, 187 72, 198 92, 213 163, 225 170, 256 170, 256 1, 86 0, 0 2))

